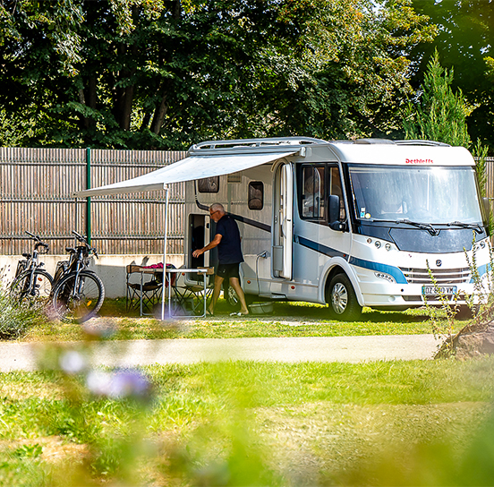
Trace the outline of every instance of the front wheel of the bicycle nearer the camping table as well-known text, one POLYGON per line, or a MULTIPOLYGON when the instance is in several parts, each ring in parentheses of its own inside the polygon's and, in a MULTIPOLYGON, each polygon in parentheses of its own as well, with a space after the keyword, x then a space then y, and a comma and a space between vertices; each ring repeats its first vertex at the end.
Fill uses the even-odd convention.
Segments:
POLYGON ((62 320, 83 322, 96 315, 105 300, 105 287, 90 270, 81 270, 79 277, 71 272, 55 285, 53 307, 62 320))

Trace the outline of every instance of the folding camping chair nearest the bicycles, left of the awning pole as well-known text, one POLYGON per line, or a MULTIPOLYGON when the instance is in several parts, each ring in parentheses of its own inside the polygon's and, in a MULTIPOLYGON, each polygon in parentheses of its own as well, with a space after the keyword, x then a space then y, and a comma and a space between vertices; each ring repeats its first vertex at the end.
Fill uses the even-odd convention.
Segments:
POLYGON ((127 312, 139 310, 141 316, 152 315, 153 307, 159 303, 163 290, 163 270, 129 264, 126 273, 125 309, 127 312))

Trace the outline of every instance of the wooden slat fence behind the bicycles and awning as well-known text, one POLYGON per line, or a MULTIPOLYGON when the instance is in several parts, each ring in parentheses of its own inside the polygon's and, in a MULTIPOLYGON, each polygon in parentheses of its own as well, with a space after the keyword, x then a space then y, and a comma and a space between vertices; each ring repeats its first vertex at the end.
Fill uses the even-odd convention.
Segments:
MULTIPOLYGON (((184 151, 0 148, 0 254, 27 252, 26 230, 51 253, 90 235, 100 253, 163 252, 164 191, 86 198, 72 192, 142 175, 186 157, 184 151)), ((170 185, 168 249, 183 253, 183 184, 170 185)))

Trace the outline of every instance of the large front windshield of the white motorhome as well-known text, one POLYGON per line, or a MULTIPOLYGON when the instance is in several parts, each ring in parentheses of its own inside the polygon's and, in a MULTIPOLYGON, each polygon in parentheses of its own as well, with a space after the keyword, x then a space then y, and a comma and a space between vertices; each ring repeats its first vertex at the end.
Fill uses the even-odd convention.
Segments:
POLYGON ((356 218, 481 225, 473 167, 349 165, 356 218))

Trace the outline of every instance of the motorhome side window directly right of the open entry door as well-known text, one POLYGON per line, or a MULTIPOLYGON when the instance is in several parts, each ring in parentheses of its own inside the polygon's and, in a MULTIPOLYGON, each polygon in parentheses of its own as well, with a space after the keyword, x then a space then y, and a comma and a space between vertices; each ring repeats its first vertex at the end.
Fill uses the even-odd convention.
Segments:
POLYGON ((304 166, 301 175, 302 218, 324 219, 325 167, 304 166))

